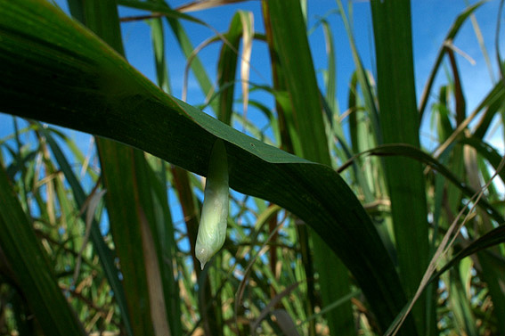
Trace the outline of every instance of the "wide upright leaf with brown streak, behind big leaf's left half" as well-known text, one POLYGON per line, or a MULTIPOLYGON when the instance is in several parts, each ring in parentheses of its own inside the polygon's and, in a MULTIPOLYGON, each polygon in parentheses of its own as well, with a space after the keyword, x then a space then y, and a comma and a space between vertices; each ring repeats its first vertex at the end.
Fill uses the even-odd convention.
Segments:
MULTIPOLYGON (((86 26, 124 54, 116 2, 86 1, 84 8, 86 26)), ((97 138, 96 145, 132 328, 134 333, 145 335, 169 334, 159 264, 148 223, 153 210, 145 207, 151 204, 139 202, 151 195, 150 185, 139 183, 146 174, 143 153, 103 138, 97 138), (141 253, 132 250, 132 246, 140 247, 141 253)))

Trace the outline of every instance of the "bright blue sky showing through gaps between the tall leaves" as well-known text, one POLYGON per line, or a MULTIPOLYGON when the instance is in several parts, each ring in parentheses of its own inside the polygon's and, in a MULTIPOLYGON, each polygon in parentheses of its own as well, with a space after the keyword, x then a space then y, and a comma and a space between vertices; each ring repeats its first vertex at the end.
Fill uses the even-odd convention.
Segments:
MULTIPOLYGON (((168 0, 168 3, 173 7, 184 4, 187 1, 168 0)), ((66 9, 66 2, 63 0, 56 1, 61 7, 66 9)), ((412 14, 412 32, 414 45, 414 61, 416 87, 418 91, 418 99, 428 78, 429 71, 433 67, 436 53, 438 52, 444 40, 447 31, 450 29, 453 20, 462 12, 467 4, 474 4, 475 1, 464 0, 414 0, 411 2, 412 14)), ((346 5, 347 2, 344 1, 346 5)), ((485 46, 490 53, 493 64, 493 73, 497 78, 497 62, 495 58, 494 34, 497 21, 499 1, 492 0, 482 5, 476 11, 476 20, 482 29, 485 38, 485 46)), ((309 0, 308 1, 308 27, 312 28, 318 17, 328 14, 331 10, 338 8, 335 0, 309 0)), ((365 68, 373 72, 373 37, 371 27, 371 11, 370 4, 366 1, 353 1, 353 25, 354 38, 359 52, 362 56, 362 61, 365 68)), ((264 32, 263 21, 261 16, 261 3, 253 0, 239 4, 231 4, 215 9, 210 9, 201 12, 191 12, 190 14, 208 22, 212 27, 220 32, 228 29, 228 25, 232 20, 233 14, 238 11, 249 11, 254 15, 255 29, 258 32, 264 32)), ((146 12, 131 10, 124 7, 119 7, 121 17, 145 15, 146 12)), ((354 62, 349 48, 349 42, 346 37, 346 32, 342 24, 342 20, 336 13, 332 13, 327 18, 330 22, 333 34, 334 43, 337 53, 337 87, 338 87, 338 104, 340 111, 346 110, 346 97, 348 94, 348 82, 354 71, 354 62)), ((191 37, 193 45, 200 45, 209 37, 214 36, 214 32, 206 27, 200 26, 192 22, 183 22, 187 33, 191 37)), ((166 30, 169 31, 169 30, 166 30)), ((155 81, 154 61, 151 48, 151 33, 149 26, 144 21, 134 21, 122 24, 122 33, 126 46, 126 58, 134 67, 141 71, 147 78, 155 81)), ((166 35, 167 38, 167 64, 171 78, 172 92, 176 97, 181 97, 183 83, 183 69, 185 59, 183 53, 179 50, 175 38, 171 34, 166 35)), ((315 69, 318 71, 318 80, 322 83, 322 73, 327 67, 326 52, 324 46, 324 37, 321 27, 316 29, 310 36, 309 42, 312 48, 315 69)), ((489 71, 486 68, 483 54, 476 40, 476 35, 470 21, 461 29, 458 37, 453 41, 464 53, 475 61, 475 64, 470 63, 464 57, 458 55, 457 61, 460 66, 462 75, 462 85, 464 92, 467 94, 468 112, 476 106, 479 100, 493 85, 489 71)), ((200 52, 200 60, 207 67, 208 75, 216 81, 216 63, 221 45, 209 45, 200 52)), ((503 50, 503 45, 501 45, 503 50)), ((503 53, 503 51, 502 51, 503 53)), ((251 71, 251 82, 257 84, 270 84, 270 70, 268 69, 269 56, 265 45, 261 42, 255 42, 251 58, 251 65, 254 70, 251 71)), ((438 87, 446 80, 444 71, 441 71, 436 80, 438 87)), ((237 89, 240 92, 240 88, 237 89)), ((273 105, 272 97, 268 95, 257 96, 257 99, 267 100, 267 105, 273 105)), ((193 78, 189 82, 188 102, 198 104, 204 102, 204 97, 200 93, 200 89, 193 78)), ((240 111, 240 104, 237 104, 237 109, 240 111)), ((261 123, 261 115, 254 109, 248 111, 248 119, 253 119, 261 123)), ((428 119, 427 119, 428 121, 428 119)), ((429 125, 425 121, 421 128, 421 142, 429 143, 429 125), (424 140, 423 140, 424 139, 424 140)), ((12 118, 0 113, 0 139, 4 136, 12 134, 12 118)), ((69 135, 76 139, 83 151, 87 151, 89 147, 89 136, 78 132, 69 131, 69 135)), ((503 147, 503 141, 499 134, 490 138, 495 146, 503 147)))

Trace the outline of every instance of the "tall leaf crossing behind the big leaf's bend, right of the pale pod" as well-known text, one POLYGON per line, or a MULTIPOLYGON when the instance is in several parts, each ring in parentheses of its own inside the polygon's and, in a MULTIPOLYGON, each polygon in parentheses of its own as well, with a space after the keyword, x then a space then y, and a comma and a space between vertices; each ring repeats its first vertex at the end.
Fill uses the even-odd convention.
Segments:
MULTIPOLYGON (((291 102, 291 127, 296 129, 301 143, 300 148, 295 148, 295 153, 331 166, 321 94, 315 78, 302 8, 297 1, 270 2, 269 7, 273 38, 291 102)), ((301 238, 305 237, 303 230, 299 232, 301 238)), ((320 275, 323 304, 329 305, 349 291, 349 276, 346 267, 324 244, 322 237, 313 233, 310 237, 314 246, 314 264, 320 275), (340 284, 338 288, 335 288, 335 283, 340 284)), ((305 250, 308 244, 302 241, 301 246, 305 250)), ((309 256, 308 253, 306 255, 309 256)), ((305 266, 309 264, 305 263, 305 266)), ((306 273, 308 277, 310 269, 307 268, 306 273)), ((342 335, 354 333, 350 304, 338 307, 327 317, 332 332, 338 331, 342 335)))

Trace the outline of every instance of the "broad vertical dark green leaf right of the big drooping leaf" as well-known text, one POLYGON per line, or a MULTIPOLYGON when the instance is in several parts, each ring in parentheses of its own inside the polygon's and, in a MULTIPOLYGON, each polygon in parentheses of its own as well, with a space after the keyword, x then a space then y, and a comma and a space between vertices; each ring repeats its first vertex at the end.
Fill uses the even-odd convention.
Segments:
MULTIPOLYGON (((419 148, 409 0, 371 2, 378 72, 380 125, 384 143, 409 143, 419 148), (402 130, 399 132, 398 130, 402 130)), ((418 162, 387 158, 385 173, 391 199, 400 276, 411 297, 428 266, 428 223, 424 176, 418 162), (391 160, 392 159, 392 160, 391 160)), ((425 334, 426 298, 413 315, 425 334)), ((431 324, 435 325, 435 324, 431 324)))

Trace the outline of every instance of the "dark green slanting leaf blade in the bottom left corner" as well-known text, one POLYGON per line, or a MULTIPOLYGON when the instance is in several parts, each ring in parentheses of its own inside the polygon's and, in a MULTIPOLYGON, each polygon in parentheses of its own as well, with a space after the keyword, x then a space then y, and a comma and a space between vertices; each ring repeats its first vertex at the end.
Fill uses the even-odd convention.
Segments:
POLYGON ((85 335, 58 286, 45 250, 0 167, 0 246, 19 290, 48 335, 85 335))

